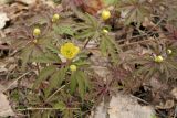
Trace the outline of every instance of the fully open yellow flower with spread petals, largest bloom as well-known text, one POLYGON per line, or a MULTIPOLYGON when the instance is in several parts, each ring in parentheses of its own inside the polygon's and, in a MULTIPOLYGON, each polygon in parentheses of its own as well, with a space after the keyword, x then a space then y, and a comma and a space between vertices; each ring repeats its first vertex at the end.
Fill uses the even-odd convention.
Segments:
POLYGON ((72 60, 80 52, 80 49, 79 46, 75 46, 73 43, 65 43, 61 46, 60 52, 65 58, 72 60))

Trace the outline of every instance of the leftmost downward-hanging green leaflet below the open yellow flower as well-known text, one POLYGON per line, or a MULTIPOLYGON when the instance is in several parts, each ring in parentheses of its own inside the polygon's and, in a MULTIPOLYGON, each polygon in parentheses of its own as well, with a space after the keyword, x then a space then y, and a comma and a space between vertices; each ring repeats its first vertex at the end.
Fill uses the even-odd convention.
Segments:
POLYGON ((48 66, 45 68, 43 68, 38 77, 38 79, 35 81, 33 88, 39 88, 40 84, 42 81, 46 79, 49 76, 51 76, 54 72, 55 72, 55 66, 51 65, 48 66))

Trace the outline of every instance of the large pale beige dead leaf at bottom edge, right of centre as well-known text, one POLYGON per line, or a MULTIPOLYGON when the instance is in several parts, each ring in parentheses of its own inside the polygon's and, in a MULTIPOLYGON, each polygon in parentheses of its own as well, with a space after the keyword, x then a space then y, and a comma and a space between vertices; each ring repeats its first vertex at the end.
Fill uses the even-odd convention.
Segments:
POLYGON ((150 106, 140 106, 129 95, 117 94, 112 96, 108 105, 97 106, 93 118, 106 118, 107 115, 110 118, 150 118, 155 110, 150 106))

